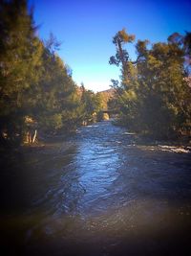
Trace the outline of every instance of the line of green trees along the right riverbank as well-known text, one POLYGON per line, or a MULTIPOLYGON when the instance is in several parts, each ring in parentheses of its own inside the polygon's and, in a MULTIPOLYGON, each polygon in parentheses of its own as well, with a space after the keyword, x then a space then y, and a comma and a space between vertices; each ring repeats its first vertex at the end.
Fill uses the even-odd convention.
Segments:
POLYGON ((117 53, 109 63, 120 67, 113 80, 118 123, 139 134, 176 138, 191 134, 191 33, 170 35, 167 42, 136 42, 137 59, 125 48, 135 35, 125 29, 113 38, 117 53))

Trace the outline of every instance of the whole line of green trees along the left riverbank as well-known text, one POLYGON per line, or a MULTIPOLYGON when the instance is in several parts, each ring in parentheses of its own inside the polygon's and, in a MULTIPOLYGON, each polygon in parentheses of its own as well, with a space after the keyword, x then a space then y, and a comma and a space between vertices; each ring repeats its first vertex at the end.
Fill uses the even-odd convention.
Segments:
POLYGON ((51 34, 41 40, 25 0, 0 2, 0 144, 32 143, 38 134, 74 130, 101 101, 76 86, 51 34))

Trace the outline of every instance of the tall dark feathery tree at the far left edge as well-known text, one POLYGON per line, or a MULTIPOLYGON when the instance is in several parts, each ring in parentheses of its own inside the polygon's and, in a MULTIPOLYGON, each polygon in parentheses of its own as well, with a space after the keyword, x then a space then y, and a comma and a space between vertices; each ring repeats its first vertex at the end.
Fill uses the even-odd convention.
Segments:
MULTIPOLYGON (((0 3, 0 131, 20 141, 25 127, 24 93, 35 81, 40 57, 26 1, 0 3)), ((5 137, 4 136, 4 137, 5 137)))

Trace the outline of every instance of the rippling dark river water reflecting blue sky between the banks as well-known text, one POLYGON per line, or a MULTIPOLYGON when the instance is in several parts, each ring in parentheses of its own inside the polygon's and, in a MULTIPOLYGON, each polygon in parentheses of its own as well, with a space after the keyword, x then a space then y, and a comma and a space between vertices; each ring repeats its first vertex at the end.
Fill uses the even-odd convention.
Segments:
POLYGON ((7 254, 191 255, 190 156, 107 121, 17 157, 2 172, 7 254))

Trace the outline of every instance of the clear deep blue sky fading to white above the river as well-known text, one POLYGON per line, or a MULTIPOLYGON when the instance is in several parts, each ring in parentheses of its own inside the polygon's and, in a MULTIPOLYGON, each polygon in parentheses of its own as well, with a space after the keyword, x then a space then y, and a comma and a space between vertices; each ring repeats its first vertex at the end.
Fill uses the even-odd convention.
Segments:
MULTIPOLYGON (((188 0, 30 0, 30 5, 40 37, 52 32, 62 42, 58 54, 72 68, 74 81, 94 91, 118 79, 118 68, 108 64, 116 52, 112 37, 117 31, 126 28, 151 42, 191 31, 188 0)), ((133 47, 129 51, 135 58, 133 47)))

